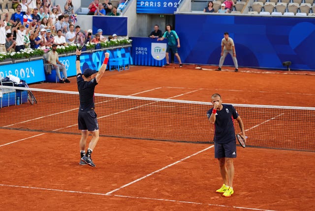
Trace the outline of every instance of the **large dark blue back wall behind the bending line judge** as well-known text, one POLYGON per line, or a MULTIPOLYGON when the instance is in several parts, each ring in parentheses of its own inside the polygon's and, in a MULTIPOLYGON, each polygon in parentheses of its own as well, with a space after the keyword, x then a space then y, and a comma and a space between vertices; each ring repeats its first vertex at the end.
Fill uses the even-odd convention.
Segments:
MULTIPOLYGON (((230 15, 175 18, 183 63, 218 65, 221 40, 227 31, 234 40, 239 66, 286 69, 282 63, 291 61, 293 70, 315 70, 315 48, 310 44, 315 40, 314 18, 230 15)), ((223 65, 234 65, 230 55, 223 65)))

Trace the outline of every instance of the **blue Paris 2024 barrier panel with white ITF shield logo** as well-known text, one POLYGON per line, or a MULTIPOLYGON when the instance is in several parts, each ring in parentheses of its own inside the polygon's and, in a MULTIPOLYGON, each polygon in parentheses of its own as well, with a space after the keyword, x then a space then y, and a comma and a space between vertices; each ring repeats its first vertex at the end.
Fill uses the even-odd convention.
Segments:
POLYGON ((166 63, 165 53, 167 39, 157 41, 148 37, 131 37, 131 55, 134 65, 163 66, 166 63))

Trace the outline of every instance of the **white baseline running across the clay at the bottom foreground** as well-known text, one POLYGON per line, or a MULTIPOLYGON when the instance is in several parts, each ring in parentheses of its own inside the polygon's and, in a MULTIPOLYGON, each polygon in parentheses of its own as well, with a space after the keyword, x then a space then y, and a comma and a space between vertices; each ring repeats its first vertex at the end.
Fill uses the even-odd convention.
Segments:
POLYGON ((186 204, 195 204, 195 205, 208 205, 208 206, 225 207, 225 208, 235 208, 235 209, 246 209, 246 210, 255 210, 255 211, 273 211, 273 210, 263 210, 263 209, 256 209, 256 208, 245 208, 245 207, 236 207, 236 206, 227 206, 227 205, 207 204, 207 203, 199 203, 199 202, 176 201, 176 200, 171 200, 171 199, 158 199, 158 198, 136 197, 136 196, 125 196, 125 195, 109 195, 109 194, 105 194, 105 193, 93 193, 93 192, 83 192, 83 191, 75 191, 75 190, 61 190, 61 189, 52 189, 52 188, 22 186, 22 185, 5 185, 5 184, 0 184, 0 186, 4 186, 4 187, 29 188, 29 189, 37 189, 37 190, 48 190, 48 191, 58 191, 58 192, 66 192, 66 193, 82 193, 82 194, 101 195, 101 196, 112 196, 112 197, 115 196, 115 197, 131 198, 131 199, 157 200, 157 201, 186 203, 186 204))

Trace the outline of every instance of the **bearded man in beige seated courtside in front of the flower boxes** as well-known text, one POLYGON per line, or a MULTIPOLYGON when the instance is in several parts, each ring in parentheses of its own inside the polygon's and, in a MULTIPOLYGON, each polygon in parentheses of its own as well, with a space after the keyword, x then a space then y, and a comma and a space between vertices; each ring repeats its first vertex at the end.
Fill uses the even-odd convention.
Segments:
POLYGON ((52 45, 52 50, 47 53, 47 63, 52 64, 56 70, 56 75, 59 78, 60 83, 70 83, 70 80, 67 79, 67 71, 64 67, 64 65, 59 61, 59 56, 57 53, 57 45, 53 44, 52 45), (63 71, 63 77, 64 79, 61 78, 60 76, 60 70, 63 71))

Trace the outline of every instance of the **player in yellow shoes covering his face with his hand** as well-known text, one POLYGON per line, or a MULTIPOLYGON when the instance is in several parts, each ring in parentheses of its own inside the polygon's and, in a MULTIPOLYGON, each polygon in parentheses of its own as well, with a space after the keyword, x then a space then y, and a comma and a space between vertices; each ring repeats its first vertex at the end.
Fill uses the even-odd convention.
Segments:
POLYGON ((223 185, 216 190, 223 193, 223 196, 230 197, 233 193, 234 165, 233 158, 236 158, 236 140, 233 119, 238 122, 242 137, 246 140, 244 125, 241 117, 232 105, 222 104, 219 94, 211 96, 213 108, 208 110, 207 116, 211 124, 215 125, 215 158, 219 160, 223 185))

